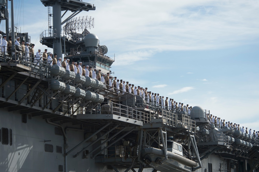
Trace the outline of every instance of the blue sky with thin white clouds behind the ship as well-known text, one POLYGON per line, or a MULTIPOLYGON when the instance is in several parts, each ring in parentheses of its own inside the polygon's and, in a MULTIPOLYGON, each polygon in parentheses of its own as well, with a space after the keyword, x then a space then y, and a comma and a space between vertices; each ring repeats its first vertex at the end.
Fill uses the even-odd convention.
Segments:
MULTIPOLYGON (((16 23, 45 49, 39 34, 47 30, 47 7, 23 1, 16 23)), ((89 31, 115 54, 113 76, 259 130, 258 1, 84 2, 96 10, 77 16, 95 18, 89 31)))

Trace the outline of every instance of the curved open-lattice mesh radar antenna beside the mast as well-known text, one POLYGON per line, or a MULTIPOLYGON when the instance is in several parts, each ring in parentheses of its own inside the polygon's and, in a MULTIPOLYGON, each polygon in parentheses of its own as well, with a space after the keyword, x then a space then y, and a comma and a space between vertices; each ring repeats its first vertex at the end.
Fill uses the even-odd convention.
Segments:
POLYGON ((82 34, 86 35, 85 29, 94 28, 95 22, 94 18, 91 16, 81 16, 72 18, 67 21, 66 25, 63 27, 64 31, 68 35, 74 35, 76 32, 83 32, 82 34))

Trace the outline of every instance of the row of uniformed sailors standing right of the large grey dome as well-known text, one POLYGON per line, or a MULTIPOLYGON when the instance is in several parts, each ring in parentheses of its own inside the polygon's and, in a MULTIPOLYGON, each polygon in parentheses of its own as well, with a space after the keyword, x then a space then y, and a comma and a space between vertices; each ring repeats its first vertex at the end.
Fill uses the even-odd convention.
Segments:
POLYGON ((253 137, 255 138, 259 138, 259 131, 256 131, 254 130, 253 134, 252 134, 252 129, 250 128, 250 130, 248 131, 247 130, 247 127, 246 127, 246 130, 244 129, 244 126, 241 128, 240 124, 236 124, 233 122, 225 122, 225 120, 222 120, 220 119, 219 117, 217 116, 214 116, 212 114, 207 114, 207 119, 210 121, 210 124, 211 123, 214 123, 215 126, 219 127, 219 128, 222 128, 222 127, 229 127, 229 128, 232 128, 234 130, 239 130, 239 131, 242 131, 242 132, 245 132, 246 134, 249 133, 249 135, 253 135, 253 137))

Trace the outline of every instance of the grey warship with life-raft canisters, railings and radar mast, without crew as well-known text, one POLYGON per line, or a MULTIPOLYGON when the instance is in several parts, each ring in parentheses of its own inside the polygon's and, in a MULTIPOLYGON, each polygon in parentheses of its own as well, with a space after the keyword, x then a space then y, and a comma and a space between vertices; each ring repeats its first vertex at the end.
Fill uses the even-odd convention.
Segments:
MULTIPOLYGON (((95 6, 41 2, 53 8, 41 43, 58 57, 111 72, 107 47, 87 30, 92 18, 73 18, 95 6), (61 11, 73 14, 62 21, 61 11)), ((12 32, 19 34, 29 42, 28 34, 12 32)), ((259 170, 258 138, 211 124, 210 111, 169 109, 21 51, 13 44, 11 54, 0 54, 0 171, 259 170)))

